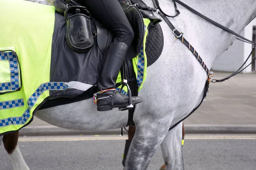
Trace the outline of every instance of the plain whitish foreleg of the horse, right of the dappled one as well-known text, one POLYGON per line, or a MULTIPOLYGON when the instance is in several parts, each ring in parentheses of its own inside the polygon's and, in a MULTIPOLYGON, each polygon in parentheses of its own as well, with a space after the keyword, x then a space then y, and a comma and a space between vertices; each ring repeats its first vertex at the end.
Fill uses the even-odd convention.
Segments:
POLYGON ((185 135, 185 131, 183 131, 182 127, 183 123, 180 123, 170 130, 161 143, 165 163, 165 166, 162 166, 161 170, 184 170, 182 139, 185 135))

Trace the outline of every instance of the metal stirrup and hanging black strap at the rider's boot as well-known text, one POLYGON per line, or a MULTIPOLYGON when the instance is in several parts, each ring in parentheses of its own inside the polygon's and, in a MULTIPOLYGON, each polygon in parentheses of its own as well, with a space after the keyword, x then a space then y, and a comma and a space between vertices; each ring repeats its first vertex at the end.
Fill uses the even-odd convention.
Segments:
POLYGON ((128 91, 127 91, 127 94, 128 94, 128 102, 129 102, 129 105, 128 106, 125 106, 123 108, 118 108, 119 111, 127 111, 129 109, 132 109, 134 108, 134 105, 132 104, 132 97, 131 97, 131 89, 128 85, 128 80, 126 79, 126 69, 125 69, 125 60, 122 64, 122 68, 121 68, 121 77, 122 77, 122 81, 121 81, 121 85, 122 87, 119 89, 119 93, 121 93, 122 89, 126 86, 128 91))

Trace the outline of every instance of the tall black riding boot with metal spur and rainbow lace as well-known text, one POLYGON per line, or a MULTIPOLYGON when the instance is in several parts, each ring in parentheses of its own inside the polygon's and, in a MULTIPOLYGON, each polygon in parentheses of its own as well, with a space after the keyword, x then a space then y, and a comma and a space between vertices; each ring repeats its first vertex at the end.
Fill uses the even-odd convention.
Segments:
MULTIPOLYGON (((114 89, 127 50, 128 46, 124 42, 113 42, 110 45, 99 77, 98 88, 100 91, 94 95, 98 111, 109 111, 129 105, 128 96, 120 94, 114 89)), ((143 99, 139 96, 132 97, 133 105, 142 101, 143 99)))

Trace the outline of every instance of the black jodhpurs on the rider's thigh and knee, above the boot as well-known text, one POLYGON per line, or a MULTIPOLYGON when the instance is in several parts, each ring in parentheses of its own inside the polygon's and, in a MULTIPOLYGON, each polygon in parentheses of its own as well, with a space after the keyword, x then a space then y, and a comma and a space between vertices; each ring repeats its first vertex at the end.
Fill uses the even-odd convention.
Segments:
POLYGON ((114 42, 124 42, 128 47, 134 39, 134 31, 117 0, 77 0, 90 11, 92 17, 106 26, 114 36, 114 42))

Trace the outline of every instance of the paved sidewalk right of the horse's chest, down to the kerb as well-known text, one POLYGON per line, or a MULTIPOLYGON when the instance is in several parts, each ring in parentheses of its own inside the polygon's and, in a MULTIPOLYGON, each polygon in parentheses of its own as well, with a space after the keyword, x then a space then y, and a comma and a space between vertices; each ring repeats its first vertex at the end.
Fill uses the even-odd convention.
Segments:
MULTIPOLYGON (((215 72, 213 79, 230 73, 215 72)), ((211 83, 206 101, 185 124, 256 125, 256 74, 238 74, 224 82, 211 83)))

